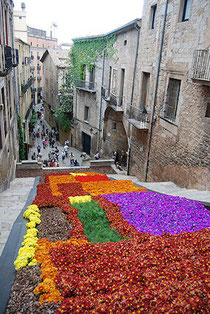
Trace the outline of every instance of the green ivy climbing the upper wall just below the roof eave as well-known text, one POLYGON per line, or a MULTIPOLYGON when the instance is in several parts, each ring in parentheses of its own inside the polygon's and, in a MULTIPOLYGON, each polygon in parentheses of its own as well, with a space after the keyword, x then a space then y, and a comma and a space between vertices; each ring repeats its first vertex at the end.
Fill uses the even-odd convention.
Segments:
POLYGON ((73 81, 83 80, 84 65, 91 72, 92 67, 96 66, 98 59, 109 56, 117 60, 117 49, 113 47, 116 41, 116 35, 101 36, 97 38, 87 38, 74 40, 71 50, 73 64, 73 81))

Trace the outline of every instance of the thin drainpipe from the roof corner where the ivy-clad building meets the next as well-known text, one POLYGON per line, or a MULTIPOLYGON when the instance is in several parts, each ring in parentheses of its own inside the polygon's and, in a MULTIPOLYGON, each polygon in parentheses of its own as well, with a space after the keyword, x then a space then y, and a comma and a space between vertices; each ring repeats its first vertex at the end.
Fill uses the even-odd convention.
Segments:
MULTIPOLYGON (((132 90, 131 90, 131 106, 133 103, 133 94, 134 94, 134 87, 135 87, 135 77, 136 77, 136 65, 137 65, 137 58, 138 58, 138 51, 139 51, 139 36, 140 36, 140 27, 136 23, 135 29, 137 30, 137 43, 136 43, 136 56, 135 56, 135 63, 134 63, 134 70, 133 70, 133 82, 132 82, 132 90)), ((129 118, 131 117, 131 111, 129 112, 129 118)), ((127 160, 127 175, 130 174, 130 158, 131 158, 131 141, 130 141, 130 122, 128 123, 128 160, 127 160)))

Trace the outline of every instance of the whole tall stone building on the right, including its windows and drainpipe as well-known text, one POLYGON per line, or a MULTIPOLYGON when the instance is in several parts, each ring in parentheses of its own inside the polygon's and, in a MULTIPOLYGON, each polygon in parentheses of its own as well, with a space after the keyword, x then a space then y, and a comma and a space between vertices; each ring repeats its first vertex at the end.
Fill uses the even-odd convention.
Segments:
POLYGON ((130 152, 142 181, 210 189, 209 16, 208 0, 144 2, 134 97, 149 128, 131 124, 130 152))

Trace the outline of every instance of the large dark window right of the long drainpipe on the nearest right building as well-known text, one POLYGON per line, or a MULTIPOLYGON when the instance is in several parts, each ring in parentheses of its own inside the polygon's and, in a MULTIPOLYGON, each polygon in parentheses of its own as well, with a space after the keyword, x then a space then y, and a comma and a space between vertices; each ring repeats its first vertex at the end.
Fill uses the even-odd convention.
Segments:
POLYGON ((181 80, 169 78, 166 102, 164 107, 164 118, 175 121, 177 106, 179 102, 181 80))

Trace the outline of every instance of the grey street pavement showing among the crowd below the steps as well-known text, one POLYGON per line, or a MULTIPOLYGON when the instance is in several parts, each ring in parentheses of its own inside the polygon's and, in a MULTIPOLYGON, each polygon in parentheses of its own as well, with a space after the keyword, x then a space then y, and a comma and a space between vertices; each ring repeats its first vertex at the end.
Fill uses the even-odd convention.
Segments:
MULTIPOLYGON (((42 106, 41 104, 37 104, 34 107, 35 111, 40 110, 41 106, 42 106)), ((49 124, 47 123, 46 120, 43 120, 42 124, 45 126, 45 129, 48 128, 48 130, 51 131, 51 128, 50 128, 50 126, 49 126, 49 124)), ((37 124, 36 124, 35 129, 34 129, 35 132, 37 132, 38 128, 40 129, 40 131, 42 130, 42 125, 41 125, 40 120, 37 121, 37 124)), ((39 133, 41 133, 41 132, 39 132, 39 133)), ((56 140, 55 137, 54 137, 54 140, 56 140)), ((49 159, 48 158, 48 154, 49 154, 50 151, 52 151, 52 148, 49 146, 49 141, 47 143, 47 147, 45 149, 43 148, 41 136, 39 138, 33 139, 33 143, 32 143, 33 147, 30 148, 30 150, 29 150, 28 159, 31 160, 31 156, 32 156, 32 154, 34 152, 37 155, 37 145, 38 144, 41 146, 42 160, 49 159)), ((70 166, 70 159, 69 159, 69 157, 65 158, 64 161, 61 158, 61 153, 63 151, 63 145, 61 145, 60 142, 56 141, 54 147, 56 147, 56 146, 59 149, 59 166, 60 167, 69 167, 70 166)), ((74 154, 74 159, 77 159, 77 161, 79 162, 79 165, 81 166, 82 162, 83 162, 83 159, 80 157, 80 155, 81 155, 82 152, 77 150, 74 147, 69 147, 68 154, 70 154, 71 152, 74 154)))

